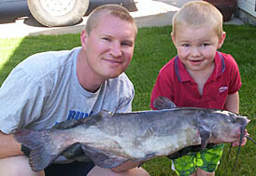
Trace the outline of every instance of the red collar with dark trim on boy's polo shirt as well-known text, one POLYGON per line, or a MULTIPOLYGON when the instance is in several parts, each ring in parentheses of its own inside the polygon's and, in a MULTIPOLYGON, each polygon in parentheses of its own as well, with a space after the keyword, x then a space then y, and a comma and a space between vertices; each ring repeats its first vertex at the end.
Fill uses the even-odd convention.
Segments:
MULTIPOLYGON (((216 52, 214 61, 215 61, 215 67, 214 67, 213 73, 210 75, 210 78, 209 78, 210 80, 216 79, 221 74, 223 74, 226 67, 224 58, 220 52, 216 52)), ((183 63, 178 59, 178 56, 176 56, 175 58, 175 72, 176 72, 176 75, 178 76, 179 82, 193 81, 192 76, 189 74, 189 72, 187 71, 183 63)))

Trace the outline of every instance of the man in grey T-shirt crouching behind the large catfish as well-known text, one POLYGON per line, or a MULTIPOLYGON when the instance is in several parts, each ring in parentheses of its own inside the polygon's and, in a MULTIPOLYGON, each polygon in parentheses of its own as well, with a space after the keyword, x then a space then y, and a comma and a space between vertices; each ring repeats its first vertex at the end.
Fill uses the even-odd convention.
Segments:
POLYGON ((57 158, 61 165, 34 172, 12 135, 16 129, 49 129, 104 109, 130 112, 135 92, 123 72, 132 60, 136 33, 124 7, 98 7, 80 35, 81 47, 39 53, 13 69, 0 88, 0 175, 85 175, 91 169, 88 175, 149 175, 135 168, 138 163, 112 171, 64 156, 57 158))

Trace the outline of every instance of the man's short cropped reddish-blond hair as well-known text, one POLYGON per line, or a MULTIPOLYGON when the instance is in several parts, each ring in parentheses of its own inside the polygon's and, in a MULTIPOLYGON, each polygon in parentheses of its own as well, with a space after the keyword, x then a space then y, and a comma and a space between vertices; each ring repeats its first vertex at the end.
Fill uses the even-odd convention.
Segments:
POLYGON ((135 25, 135 33, 137 33, 135 19, 130 15, 129 11, 125 7, 121 7, 120 5, 104 5, 96 7, 88 17, 85 25, 85 31, 88 34, 91 34, 92 30, 97 27, 98 21, 108 14, 133 23, 135 25))

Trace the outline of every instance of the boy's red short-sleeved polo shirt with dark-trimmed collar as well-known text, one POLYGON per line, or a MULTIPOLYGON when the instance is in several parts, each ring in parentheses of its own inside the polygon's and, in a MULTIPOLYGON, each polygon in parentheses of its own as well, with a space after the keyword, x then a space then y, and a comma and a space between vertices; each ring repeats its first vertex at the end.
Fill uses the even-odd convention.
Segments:
POLYGON ((155 109, 152 102, 164 96, 178 107, 224 109, 228 94, 235 93, 241 87, 241 78, 231 55, 217 52, 214 61, 215 68, 206 81, 202 96, 178 56, 168 61, 160 70, 152 89, 150 107, 155 109))

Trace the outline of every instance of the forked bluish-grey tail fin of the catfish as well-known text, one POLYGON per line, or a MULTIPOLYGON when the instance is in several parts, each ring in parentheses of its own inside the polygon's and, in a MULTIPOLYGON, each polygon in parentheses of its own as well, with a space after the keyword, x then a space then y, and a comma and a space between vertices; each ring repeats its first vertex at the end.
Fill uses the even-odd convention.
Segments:
POLYGON ((49 134, 47 131, 21 129, 15 132, 14 138, 31 149, 29 164, 34 171, 41 171, 59 155, 51 155, 47 150, 49 134))

